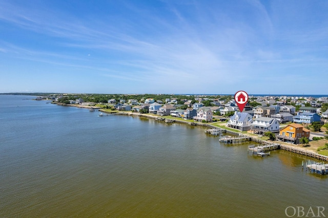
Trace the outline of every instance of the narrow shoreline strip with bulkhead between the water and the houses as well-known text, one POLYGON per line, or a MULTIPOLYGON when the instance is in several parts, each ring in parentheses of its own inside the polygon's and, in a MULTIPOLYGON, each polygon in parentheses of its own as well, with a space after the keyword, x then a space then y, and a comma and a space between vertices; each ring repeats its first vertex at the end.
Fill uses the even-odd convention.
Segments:
POLYGON ((101 107, 96 107, 96 106, 87 106, 87 105, 72 105, 72 104, 63 104, 63 103, 57 103, 57 105, 60 106, 75 106, 79 108, 87 108, 87 109, 97 109, 99 112, 106 113, 106 114, 117 114, 117 115, 126 115, 126 116, 135 116, 135 117, 145 117, 148 119, 158 119, 160 121, 165 121, 165 120, 170 120, 170 122, 176 122, 176 123, 182 123, 182 124, 187 124, 187 125, 195 125, 195 126, 206 126, 210 128, 218 128, 218 129, 224 129, 228 132, 228 134, 232 135, 245 135, 251 138, 251 141, 254 142, 259 142, 263 144, 279 144, 279 148, 282 150, 294 152, 295 154, 300 154, 302 156, 306 157, 311 157, 311 158, 316 158, 319 160, 323 161, 328 161, 328 156, 325 155, 320 155, 318 152, 315 152, 311 149, 308 149, 306 147, 300 148, 297 145, 289 144, 289 143, 281 143, 277 141, 267 141, 267 140, 262 140, 258 139, 258 137, 254 137, 253 135, 250 134, 243 134, 241 132, 233 132, 232 130, 226 129, 226 128, 220 128, 218 126, 212 125, 210 123, 202 123, 202 122, 190 122, 190 121, 183 121, 183 120, 176 120, 176 119, 167 119, 167 118, 162 118, 160 116, 156 115, 150 115, 150 114, 139 114, 139 113, 134 113, 134 112, 114 112, 114 113, 109 113, 108 111, 104 110, 104 108, 101 107), (160 119, 159 119, 160 118, 160 119))

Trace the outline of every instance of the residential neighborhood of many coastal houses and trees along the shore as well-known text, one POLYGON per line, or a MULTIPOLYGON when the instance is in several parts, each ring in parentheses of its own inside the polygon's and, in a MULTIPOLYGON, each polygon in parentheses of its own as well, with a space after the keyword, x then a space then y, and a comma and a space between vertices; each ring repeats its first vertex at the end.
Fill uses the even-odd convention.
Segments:
MULTIPOLYGON (((232 96, 227 95, 75 97, 78 98, 61 95, 53 101, 63 102, 65 99, 68 104, 97 104, 115 111, 170 116, 193 122, 215 123, 227 119, 225 126, 228 128, 260 136, 273 133, 277 140, 294 144, 302 137, 310 137, 309 125, 314 122, 325 124, 328 119, 328 97, 249 96, 242 112, 232 96)), ((240 98, 244 99, 243 96, 240 98)))

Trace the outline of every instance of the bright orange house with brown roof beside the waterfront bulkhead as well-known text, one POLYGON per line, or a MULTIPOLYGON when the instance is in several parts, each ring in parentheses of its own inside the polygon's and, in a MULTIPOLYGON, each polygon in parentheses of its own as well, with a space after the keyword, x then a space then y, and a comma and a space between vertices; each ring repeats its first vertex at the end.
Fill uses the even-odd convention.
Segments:
POLYGON ((310 130, 301 124, 292 123, 279 131, 278 140, 298 144, 302 137, 309 138, 310 130))

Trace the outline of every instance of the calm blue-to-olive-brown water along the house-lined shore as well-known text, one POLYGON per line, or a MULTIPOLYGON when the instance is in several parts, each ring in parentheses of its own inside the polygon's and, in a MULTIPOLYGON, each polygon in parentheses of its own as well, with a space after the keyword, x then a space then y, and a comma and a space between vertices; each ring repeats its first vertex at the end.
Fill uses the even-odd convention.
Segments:
POLYGON ((26 98, 0 95, 1 217, 328 216, 328 178, 302 171, 308 158, 259 158, 203 128, 26 98))

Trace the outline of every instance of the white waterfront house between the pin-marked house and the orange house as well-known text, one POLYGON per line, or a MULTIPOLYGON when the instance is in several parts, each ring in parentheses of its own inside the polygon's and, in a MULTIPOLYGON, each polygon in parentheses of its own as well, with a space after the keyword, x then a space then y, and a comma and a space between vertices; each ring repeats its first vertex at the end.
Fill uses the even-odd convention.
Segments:
POLYGON ((259 117, 251 124, 251 130, 254 134, 263 135, 265 132, 278 133, 279 121, 270 117, 259 117))

